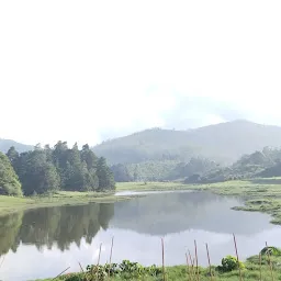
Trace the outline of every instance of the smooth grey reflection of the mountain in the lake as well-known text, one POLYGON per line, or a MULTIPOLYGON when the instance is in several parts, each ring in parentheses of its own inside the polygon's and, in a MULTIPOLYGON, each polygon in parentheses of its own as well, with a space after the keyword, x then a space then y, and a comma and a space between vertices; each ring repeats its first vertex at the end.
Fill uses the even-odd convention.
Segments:
POLYGON ((232 210, 239 204, 234 198, 209 192, 150 194, 115 203, 111 224, 150 235, 188 229, 251 235, 271 227, 263 214, 232 210))

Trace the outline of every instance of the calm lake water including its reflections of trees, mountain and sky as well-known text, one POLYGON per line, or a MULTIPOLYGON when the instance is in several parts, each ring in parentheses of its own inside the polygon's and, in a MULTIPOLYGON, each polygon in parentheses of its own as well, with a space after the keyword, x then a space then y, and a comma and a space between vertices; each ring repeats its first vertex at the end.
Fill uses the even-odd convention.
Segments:
POLYGON ((232 234, 236 234, 241 259, 256 255, 268 241, 281 246, 281 227, 260 213, 233 211, 243 202, 207 192, 151 192, 146 196, 114 204, 57 206, 12 214, 0 220, 0 280, 34 280, 55 277, 70 267, 78 271, 110 256, 143 265, 160 265, 160 238, 165 239, 166 263, 184 263, 188 249, 199 262, 207 263, 209 243, 212 263, 235 255, 232 234))

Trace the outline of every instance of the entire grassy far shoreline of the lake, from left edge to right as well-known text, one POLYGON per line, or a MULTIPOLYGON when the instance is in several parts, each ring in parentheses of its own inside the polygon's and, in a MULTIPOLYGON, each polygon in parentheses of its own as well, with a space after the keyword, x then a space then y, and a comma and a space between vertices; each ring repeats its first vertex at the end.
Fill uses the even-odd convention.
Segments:
MULTIPOLYGON (((256 179, 257 181, 258 179, 256 179)), ((235 211, 260 212, 272 216, 270 223, 281 225, 281 184, 272 184, 272 179, 262 179, 263 183, 252 183, 251 180, 234 180, 210 184, 186 184, 181 182, 119 182, 114 192, 68 192, 59 191, 49 196, 0 196, 0 216, 19 211, 81 205, 88 203, 114 203, 121 200, 132 200, 143 195, 115 195, 117 192, 148 191, 209 191, 217 195, 245 198, 243 206, 233 206, 235 211), (267 180, 271 180, 267 184, 267 180)), ((279 178, 276 181, 279 182, 279 178)))

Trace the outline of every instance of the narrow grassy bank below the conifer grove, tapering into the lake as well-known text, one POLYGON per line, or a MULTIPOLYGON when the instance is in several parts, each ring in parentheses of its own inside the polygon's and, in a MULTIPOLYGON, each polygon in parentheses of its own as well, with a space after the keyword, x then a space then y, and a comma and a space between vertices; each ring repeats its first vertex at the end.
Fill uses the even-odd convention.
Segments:
POLYGON ((57 206, 57 205, 78 205, 90 202, 110 203, 119 200, 126 200, 126 196, 115 196, 114 193, 105 192, 70 192, 59 191, 49 196, 14 198, 0 196, 0 216, 19 212, 22 210, 57 206))

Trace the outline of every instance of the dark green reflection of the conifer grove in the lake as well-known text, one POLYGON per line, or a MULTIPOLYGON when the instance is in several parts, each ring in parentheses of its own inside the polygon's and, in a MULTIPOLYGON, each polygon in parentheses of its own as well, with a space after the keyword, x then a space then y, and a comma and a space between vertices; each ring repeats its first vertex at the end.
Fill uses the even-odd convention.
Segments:
POLYGON ((87 243, 100 231, 106 229, 114 215, 113 204, 44 207, 12 214, 0 220, 0 254, 16 250, 20 241, 35 245, 38 249, 54 243, 60 250, 71 243, 79 247, 81 238, 87 243))

